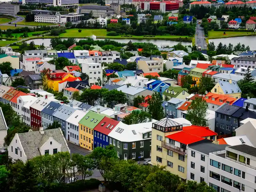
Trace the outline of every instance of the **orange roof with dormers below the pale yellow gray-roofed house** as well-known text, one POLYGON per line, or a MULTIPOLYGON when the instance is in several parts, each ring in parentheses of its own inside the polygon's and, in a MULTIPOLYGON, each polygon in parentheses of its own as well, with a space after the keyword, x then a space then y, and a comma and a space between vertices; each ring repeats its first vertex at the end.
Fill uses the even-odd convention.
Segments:
POLYGON ((226 103, 226 101, 229 101, 230 105, 232 105, 236 101, 236 98, 233 98, 230 95, 216 94, 212 92, 209 92, 207 95, 205 95, 203 99, 207 103, 212 103, 219 106, 226 103), (206 99, 207 97, 208 99, 206 99), (214 100, 212 100, 212 98, 214 98, 214 100), (220 100, 222 100, 222 102, 220 102, 220 100))

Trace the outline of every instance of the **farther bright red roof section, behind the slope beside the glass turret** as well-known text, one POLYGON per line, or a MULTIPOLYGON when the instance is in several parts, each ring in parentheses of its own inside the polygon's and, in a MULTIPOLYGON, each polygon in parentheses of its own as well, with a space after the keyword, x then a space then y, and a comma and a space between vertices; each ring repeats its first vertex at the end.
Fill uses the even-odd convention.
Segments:
POLYGON ((209 127, 191 125, 182 128, 183 132, 196 135, 198 137, 208 137, 212 135, 218 135, 218 133, 209 129, 209 127))

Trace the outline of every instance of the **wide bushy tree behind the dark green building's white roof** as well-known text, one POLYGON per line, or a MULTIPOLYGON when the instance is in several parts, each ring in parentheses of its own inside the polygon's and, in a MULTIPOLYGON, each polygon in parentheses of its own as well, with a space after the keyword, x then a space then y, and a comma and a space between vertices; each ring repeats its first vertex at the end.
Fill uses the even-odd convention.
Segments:
POLYGON ((146 123, 151 115, 145 111, 133 110, 132 113, 123 118, 123 123, 127 125, 146 123))

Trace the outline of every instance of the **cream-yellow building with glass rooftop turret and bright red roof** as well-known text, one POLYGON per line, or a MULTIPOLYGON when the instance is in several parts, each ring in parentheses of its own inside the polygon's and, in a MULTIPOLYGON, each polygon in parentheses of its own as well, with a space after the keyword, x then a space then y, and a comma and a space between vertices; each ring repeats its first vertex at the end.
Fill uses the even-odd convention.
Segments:
POLYGON ((217 133, 208 127, 186 126, 165 118, 152 124, 151 164, 187 179, 187 148, 205 138, 217 143, 217 133))

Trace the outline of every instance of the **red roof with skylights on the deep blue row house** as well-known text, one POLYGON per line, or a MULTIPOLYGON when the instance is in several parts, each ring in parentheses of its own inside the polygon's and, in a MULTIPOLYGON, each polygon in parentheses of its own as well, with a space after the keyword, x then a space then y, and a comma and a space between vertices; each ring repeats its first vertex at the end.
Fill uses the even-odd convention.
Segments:
POLYGON ((96 125, 96 127, 94 127, 94 131, 98 131, 101 132, 105 135, 108 135, 115 127, 116 125, 119 123, 119 121, 116 121, 114 119, 110 119, 108 117, 104 117, 100 123, 98 123, 96 125))

